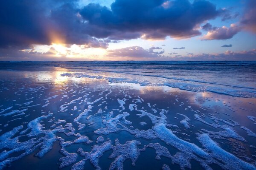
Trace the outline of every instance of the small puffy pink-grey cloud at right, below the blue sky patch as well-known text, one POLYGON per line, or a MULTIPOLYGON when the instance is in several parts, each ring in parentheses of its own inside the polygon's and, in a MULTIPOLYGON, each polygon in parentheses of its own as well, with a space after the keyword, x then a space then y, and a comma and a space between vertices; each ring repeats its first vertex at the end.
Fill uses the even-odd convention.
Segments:
POLYGON ((226 40, 232 38, 239 31, 241 31, 240 26, 231 24, 229 28, 223 26, 208 31, 207 34, 202 37, 202 40, 226 40))

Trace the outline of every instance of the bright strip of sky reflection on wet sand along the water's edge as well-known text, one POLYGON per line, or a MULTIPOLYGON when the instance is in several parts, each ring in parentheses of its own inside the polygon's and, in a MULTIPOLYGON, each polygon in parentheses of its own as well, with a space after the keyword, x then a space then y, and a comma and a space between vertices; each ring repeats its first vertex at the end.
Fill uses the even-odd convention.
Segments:
MULTIPOLYGON (((140 94, 150 94, 152 91, 162 91, 166 94, 182 92, 182 96, 184 94, 192 94, 186 96, 190 102, 195 103, 200 107, 231 107, 233 105, 239 105, 240 108, 243 108, 243 105, 246 105, 247 108, 253 109, 253 105, 248 104, 248 102, 255 103, 254 98, 239 98, 221 94, 214 94, 211 92, 189 92, 189 91, 182 91, 178 88, 171 88, 168 86, 141 86, 137 83, 114 83, 108 82, 104 79, 90 79, 90 78, 76 78, 76 77, 66 77, 61 76, 64 73, 71 73, 67 69, 61 69, 54 71, 1 71, 7 77, 12 78, 12 74, 18 74, 19 77, 24 77, 30 79, 30 81, 34 82, 35 84, 40 83, 51 83, 58 87, 58 85, 65 85, 67 83, 79 83, 79 84, 92 84, 93 81, 96 81, 94 86, 110 86, 111 88, 125 88, 125 89, 134 89, 140 91, 140 94), (239 101, 239 102, 238 102, 239 101), (230 106, 229 106, 230 105, 230 106)), ((179 95, 179 94, 178 94, 179 95)), ((180 97, 180 96, 179 96, 180 97)), ((186 98, 185 97, 185 98, 186 98)), ((161 96, 159 96, 161 98, 161 96)), ((232 108, 232 107, 231 107, 232 108)), ((240 109, 241 110, 241 109, 240 109)), ((239 110, 236 110, 239 111, 239 110)))

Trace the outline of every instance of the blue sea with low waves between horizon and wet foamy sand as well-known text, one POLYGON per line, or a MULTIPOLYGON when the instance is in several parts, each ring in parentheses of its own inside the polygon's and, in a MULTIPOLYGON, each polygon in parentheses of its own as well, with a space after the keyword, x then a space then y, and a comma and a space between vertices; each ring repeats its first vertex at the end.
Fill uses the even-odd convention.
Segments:
POLYGON ((72 77, 134 82, 143 86, 166 85, 195 92, 211 91, 232 96, 256 97, 256 62, 0 62, 0 67, 1 69, 65 68, 75 72, 67 75, 72 77))

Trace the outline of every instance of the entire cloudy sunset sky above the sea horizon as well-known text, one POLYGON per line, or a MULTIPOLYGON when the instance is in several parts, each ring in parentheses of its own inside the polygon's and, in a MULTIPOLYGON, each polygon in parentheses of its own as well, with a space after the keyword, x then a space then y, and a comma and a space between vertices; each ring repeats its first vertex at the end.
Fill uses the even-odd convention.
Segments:
POLYGON ((256 60, 256 0, 5 0, 0 61, 256 60))

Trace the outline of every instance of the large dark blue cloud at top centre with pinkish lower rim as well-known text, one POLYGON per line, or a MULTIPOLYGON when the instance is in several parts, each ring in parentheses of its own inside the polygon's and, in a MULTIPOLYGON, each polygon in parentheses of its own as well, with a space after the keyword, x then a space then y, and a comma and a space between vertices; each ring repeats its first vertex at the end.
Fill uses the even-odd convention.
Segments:
MULTIPOLYGON (((183 38, 201 34, 195 27, 215 18, 220 11, 204 0, 116 0, 111 9, 99 4, 85 6, 80 14, 91 25, 108 30, 137 32, 145 39, 183 38)), ((97 32, 93 34, 97 36, 97 32)), ((111 31, 108 32, 111 36, 111 31)), ((134 38, 134 37, 133 37, 134 38)))

